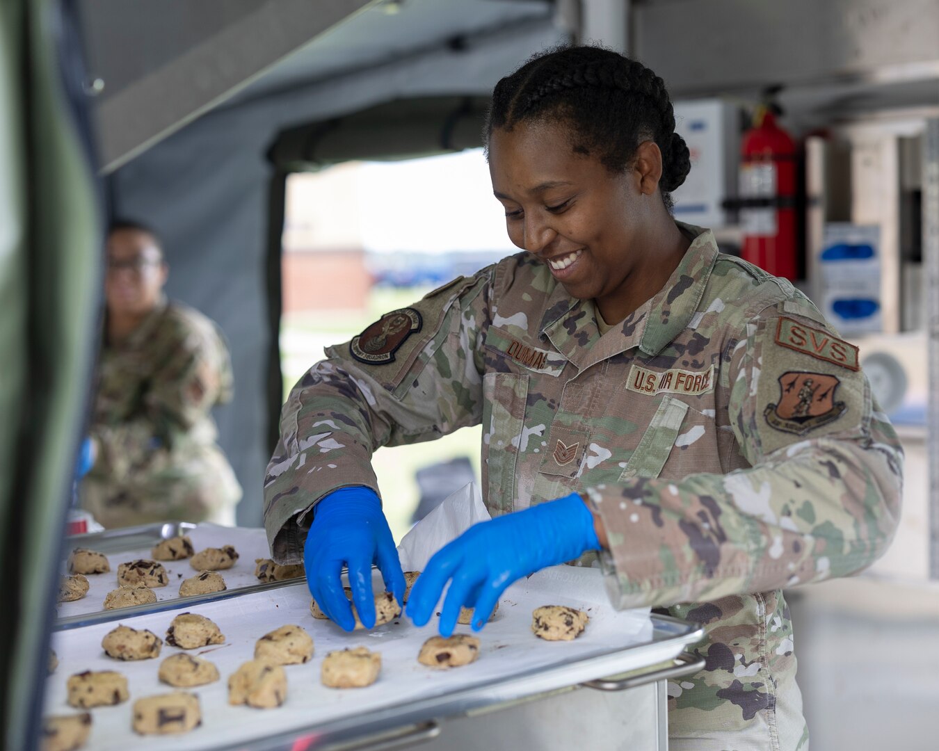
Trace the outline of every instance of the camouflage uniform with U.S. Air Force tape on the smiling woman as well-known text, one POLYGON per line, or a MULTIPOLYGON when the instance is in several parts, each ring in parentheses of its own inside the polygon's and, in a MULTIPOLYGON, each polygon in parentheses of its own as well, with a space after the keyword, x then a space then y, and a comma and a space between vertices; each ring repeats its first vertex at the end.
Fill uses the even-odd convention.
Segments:
POLYGON ((586 491, 613 605, 704 623, 706 667, 670 684, 672 747, 806 747, 781 590, 881 555, 901 446, 805 296, 680 226, 669 283, 602 335, 592 300, 519 253, 328 350, 285 405, 269 540, 298 562, 318 498, 377 490, 378 446, 482 421, 494 515, 586 491))

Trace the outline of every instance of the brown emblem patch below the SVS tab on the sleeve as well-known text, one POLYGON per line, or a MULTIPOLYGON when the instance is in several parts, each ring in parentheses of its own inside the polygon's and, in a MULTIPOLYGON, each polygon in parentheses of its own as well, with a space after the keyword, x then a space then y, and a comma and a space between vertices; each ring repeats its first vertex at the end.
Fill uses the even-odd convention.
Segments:
POLYGON ((763 417, 777 430, 805 436, 844 414, 847 406, 835 401, 839 385, 834 375, 784 373, 779 376, 779 401, 767 405, 763 417))

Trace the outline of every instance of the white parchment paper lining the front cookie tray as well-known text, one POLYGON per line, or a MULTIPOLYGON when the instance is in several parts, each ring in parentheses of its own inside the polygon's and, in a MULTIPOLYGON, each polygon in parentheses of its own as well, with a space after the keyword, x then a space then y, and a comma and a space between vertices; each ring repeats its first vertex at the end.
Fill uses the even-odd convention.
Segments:
MULTIPOLYGON (((516 582, 500 599, 495 619, 478 635, 481 647, 477 662, 452 670, 424 667, 416 659, 423 641, 436 634, 436 619, 422 629, 402 618, 372 632, 346 634, 330 621, 316 621, 310 615, 309 603, 305 582, 298 582, 276 590, 244 594, 192 608, 193 612, 219 624, 225 643, 191 651, 214 662, 222 678, 219 682, 191 689, 200 698, 203 724, 182 738, 139 737, 131 731, 134 699, 174 690, 157 680, 157 670, 163 658, 180 650, 164 644, 161 656, 156 660, 112 660, 101 651, 100 641, 116 626, 115 622, 54 634, 54 649, 60 664, 47 679, 45 713, 75 712, 66 703, 66 682, 72 673, 118 670, 128 677, 131 699, 116 707, 91 710, 94 724, 89 748, 101 751, 128 747, 170 749, 179 748, 183 743, 187 749, 208 749, 246 743, 273 732, 309 728, 342 718, 361 718, 364 713, 397 705, 404 711, 416 701, 439 699, 474 686, 491 686, 491 694, 495 698, 500 696, 500 682, 526 671, 544 673, 552 667, 572 666, 577 661, 610 656, 604 667, 594 666, 595 674, 578 674, 573 681, 554 686, 561 687, 667 660, 682 649, 682 644, 674 640, 656 643, 652 647, 633 650, 638 655, 635 665, 624 662, 623 656, 630 654, 630 648, 652 640, 653 624, 645 610, 614 611, 608 604, 602 575, 595 569, 553 567, 516 582), (589 613, 591 622, 586 632, 573 642, 546 642, 531 633, 531 611, 539 605, 577 607, 589 613), (254 642, 258 637, 287 623, 302 625, 313 636, 316 652, 306 665, 285 667, 288 696, 284 706, 274 710, 229 706, 228 676, 242 662, 253 657, 254 642), (362 689, 335 690, 321 685, 319 670, 326 653, 360 645, 381 653, 382 670, 378 681, 362 689)), ((137 629, 149 629, 163 637, 177 612, 153 613, 120 622, 137 629)), ((461 633, 471 633, 469 626, 458 629, 461 633)), ((532 681, 534 683, 536 681, 532 681)), ((539 686, 540 690, 550 688, 545 682, 540 682, 539 686)))

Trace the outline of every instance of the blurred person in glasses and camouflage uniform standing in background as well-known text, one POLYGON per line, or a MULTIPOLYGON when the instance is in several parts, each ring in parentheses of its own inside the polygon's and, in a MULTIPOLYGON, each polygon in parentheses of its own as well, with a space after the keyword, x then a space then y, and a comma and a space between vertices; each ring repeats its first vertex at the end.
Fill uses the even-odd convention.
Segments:
POLYGON ((107 244, 104 342, 83 508, 105 527, 167 520, 235 523, 241 488, 211 408, 233 378, 221 331, 162 293, 168 269, 146 226, 116 222, 107 244))

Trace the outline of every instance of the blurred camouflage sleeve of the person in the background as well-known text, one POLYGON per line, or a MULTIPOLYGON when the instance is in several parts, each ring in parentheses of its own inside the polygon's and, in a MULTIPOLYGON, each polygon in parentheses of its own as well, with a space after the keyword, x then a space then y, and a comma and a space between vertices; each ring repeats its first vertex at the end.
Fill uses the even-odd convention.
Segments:
POLYGON ((165 341, 154 343, 157 364, 142 409, 130 419, 91 428, 99 449, 96 475, 127 476, 133 467, 146 464, 155 449, 172 449, 212 406, 231 398, 231 361, 221 333, 208 323, 175 324, 158 334, 165 341))

